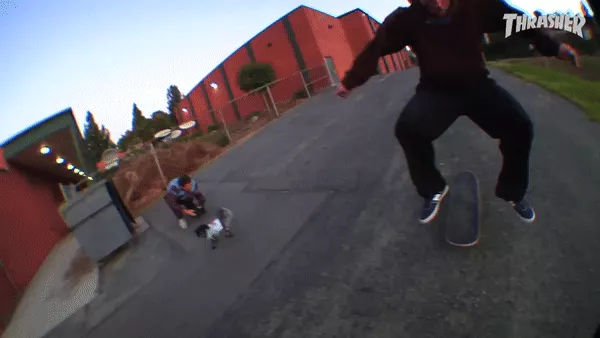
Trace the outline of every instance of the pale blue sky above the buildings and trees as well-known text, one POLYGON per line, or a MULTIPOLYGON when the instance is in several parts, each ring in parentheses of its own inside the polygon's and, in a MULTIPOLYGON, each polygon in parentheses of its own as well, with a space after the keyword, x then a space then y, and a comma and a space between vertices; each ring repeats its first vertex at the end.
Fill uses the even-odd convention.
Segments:
MULTIPOLYGON (((509 0, 532 13, 579 13, 579 0, 509 0)), ((114 141, 167 111, 242 44, 299 5, 332 15, 361 8, 382 21, 406 0, 0 0, 0 142, 71 107, 114 141)))

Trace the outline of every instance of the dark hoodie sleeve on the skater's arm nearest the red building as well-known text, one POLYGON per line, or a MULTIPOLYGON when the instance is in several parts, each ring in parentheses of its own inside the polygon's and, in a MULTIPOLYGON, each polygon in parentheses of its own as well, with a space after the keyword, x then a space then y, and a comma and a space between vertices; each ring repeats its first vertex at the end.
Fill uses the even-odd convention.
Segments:
POLYGON ((377 73, 379 58, 401 51, 408 45, 405 18, 406 8, 400 7, 381 23, 375 37, 363 48, 346 72, 342 85, 348 90, 361 86, 377 73))

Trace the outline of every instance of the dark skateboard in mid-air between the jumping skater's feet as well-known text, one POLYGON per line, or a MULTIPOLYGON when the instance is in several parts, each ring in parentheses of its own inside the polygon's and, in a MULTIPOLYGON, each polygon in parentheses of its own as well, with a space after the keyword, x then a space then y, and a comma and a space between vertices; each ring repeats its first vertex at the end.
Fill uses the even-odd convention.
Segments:
POLYGON ((448 194, 446 242, 455 246, 473 246, 479 242, 481 217, 479 180, 471 171, 454 177, 448 194))

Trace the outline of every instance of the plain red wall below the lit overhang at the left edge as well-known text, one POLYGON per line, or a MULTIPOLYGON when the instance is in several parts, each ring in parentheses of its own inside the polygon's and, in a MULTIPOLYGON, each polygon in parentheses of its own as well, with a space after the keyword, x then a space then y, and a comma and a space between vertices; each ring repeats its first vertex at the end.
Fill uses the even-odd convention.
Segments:
MULTIPOLYGON (((0 172, 0 187, 0 260, 19 291, 24 291, 48 253, 68 233, 58 212, 63 196, 54 181, 15 166, 0 172)), ((6 280, 0 281, 0 288, 5 284, 6 280)), ((4 298, 11 292, 0 291, 0 308, 12 305, 14 300, 4 298)))

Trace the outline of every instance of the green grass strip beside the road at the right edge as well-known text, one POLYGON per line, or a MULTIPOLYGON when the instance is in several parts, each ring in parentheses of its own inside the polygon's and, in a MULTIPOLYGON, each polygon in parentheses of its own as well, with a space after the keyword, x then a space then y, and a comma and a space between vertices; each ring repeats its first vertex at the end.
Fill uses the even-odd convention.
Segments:
POLYGON ((559 60, 544 58, 490 62, 490 66, 514 74, 577 104, 592 120, 600 122, 600 58, 584 57, 576 69, 559 60))

